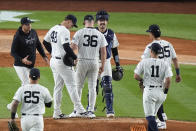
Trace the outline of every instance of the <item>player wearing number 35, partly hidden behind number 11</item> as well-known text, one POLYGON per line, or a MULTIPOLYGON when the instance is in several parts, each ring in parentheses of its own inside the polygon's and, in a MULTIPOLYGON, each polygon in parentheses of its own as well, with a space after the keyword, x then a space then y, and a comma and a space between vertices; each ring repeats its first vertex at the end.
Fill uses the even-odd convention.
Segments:
MULTIPOLYGON (((150 48, 149 47, 151 46, 152 43, 155 43, 155 42, 159 43, 161 45, 161 53, 159 54, 158 58, 163 59, 164 61, 168 62, 170 67, 171 67, 171 63, 173 61, 174 67, 176 70, 176 82, 180 82, 181 76, 180 76, 178 59, 177 59, 176 52, 175 52, 172 44, 169 43, 168 41, 162 40, 160 38, 161 30, 160 30, 160 27, 156 24, 150 25, 149 29, 146 32, 149 32, 149 36, 153 41, 146 46, 146 49, 142 55, 142 59, 150 58, 150 48)), ((167 116, 164 113, 163 105, 161 105, 161 107, 157 113, 157 116, 160 120, 160 121, 157 121, 158 128, 159 129, 166 129, 167 128, 166 127, 167 116)))

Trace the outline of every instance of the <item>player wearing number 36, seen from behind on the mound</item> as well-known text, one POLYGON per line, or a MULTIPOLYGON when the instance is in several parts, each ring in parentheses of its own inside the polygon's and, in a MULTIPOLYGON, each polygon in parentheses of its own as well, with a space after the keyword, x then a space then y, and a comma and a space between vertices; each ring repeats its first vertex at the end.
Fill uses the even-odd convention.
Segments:
MULTIPOLYGON (((85 28, 80 29, 74 34, 72 45, 73 49, 78 49, 78 63, 76 67, 76 82, 78 94, 81 99, 84 80, 88 78, 89 107, 87 117, 94 118, 94 106, 96 103, 96 80, 98 72, 104 70, 106 59, 107 41, 104 35, 95 29, 94 18, 92 15, 84 17, 85 28), (101 67, 99 69, 99 50, 101 50, 101 67)), ((72 113, 74 114, 74 112, 72 113)), ((70 116, 72 116, 70 114, 70 116)))

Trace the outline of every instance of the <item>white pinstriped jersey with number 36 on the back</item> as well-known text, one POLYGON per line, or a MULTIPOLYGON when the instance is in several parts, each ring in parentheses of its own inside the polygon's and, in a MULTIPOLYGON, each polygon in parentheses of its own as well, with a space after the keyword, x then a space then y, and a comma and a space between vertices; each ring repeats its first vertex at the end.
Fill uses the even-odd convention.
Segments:
POLYGON ((72 43, 78 45, 78 59, 98 60, 99 50, 107 46, 104 35, 95 28, 83 28, 77 31, 72 43))

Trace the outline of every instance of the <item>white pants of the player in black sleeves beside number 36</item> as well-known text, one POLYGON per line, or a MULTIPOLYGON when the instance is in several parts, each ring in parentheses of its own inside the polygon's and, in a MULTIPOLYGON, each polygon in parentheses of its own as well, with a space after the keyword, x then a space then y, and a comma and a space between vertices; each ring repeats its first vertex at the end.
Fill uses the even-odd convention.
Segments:
POLYGON ((62 100, 62 89, 64 84, 74 104, 77 112, 84 112, 85 109, 81 104, 76 88, 76 74, 72 67, 66 66, 62 59, 51 58, 50 67, 53 72, 55 87, 54 87, 54 113, 61 114, 60 106, 62 100))

